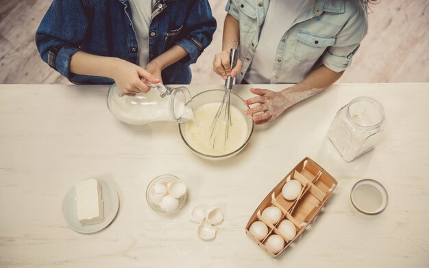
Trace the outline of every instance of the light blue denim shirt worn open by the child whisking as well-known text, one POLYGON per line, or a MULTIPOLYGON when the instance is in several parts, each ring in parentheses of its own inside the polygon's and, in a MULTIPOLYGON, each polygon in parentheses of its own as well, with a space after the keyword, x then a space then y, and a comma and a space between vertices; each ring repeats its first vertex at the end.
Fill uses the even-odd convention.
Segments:
MULTIPOLYGON (((237 83, 252 62, 268 6, 269 0, 230 0, 226 5, 225 10, 240 25, 243 68, 237 83)), ((366 1, 316 0, 280 40, 270 83, 298 83, 321 64, 334 72, 345 70, 367 30, 366 1)))

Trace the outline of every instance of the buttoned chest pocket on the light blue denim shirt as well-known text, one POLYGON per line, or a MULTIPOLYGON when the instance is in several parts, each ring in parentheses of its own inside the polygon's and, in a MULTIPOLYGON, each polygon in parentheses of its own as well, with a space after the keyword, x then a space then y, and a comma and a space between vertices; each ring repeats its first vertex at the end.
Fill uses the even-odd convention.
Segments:
POLYGON ((316 61, 328 46, 335 43, 334 36, 319 36, 308 31, 298 31, 295 59, 316 61))

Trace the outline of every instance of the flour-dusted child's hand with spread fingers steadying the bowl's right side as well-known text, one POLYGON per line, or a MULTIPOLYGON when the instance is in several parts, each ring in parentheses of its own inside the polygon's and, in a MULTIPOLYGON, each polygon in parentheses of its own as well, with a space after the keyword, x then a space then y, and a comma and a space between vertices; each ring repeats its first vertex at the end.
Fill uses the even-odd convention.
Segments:
POLYGON ((251 88, 250 91, 259 95, 254 98, 249 98, 244 102, 245 105, 259 104, 246 111, 247 115, 253 115, 252 119, 255 121, 255 124, 263 124, 274 120, 280 116, 284 110, 294 104, 287 98, 285 91, 273 92, 260 88, 251 88))

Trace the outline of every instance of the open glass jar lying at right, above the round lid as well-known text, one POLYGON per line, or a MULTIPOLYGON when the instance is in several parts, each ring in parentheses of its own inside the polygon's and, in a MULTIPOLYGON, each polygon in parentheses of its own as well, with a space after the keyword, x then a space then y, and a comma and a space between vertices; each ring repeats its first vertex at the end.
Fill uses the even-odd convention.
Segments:
POLYGON ((385 126, 381 103, 374 98, 360 96, 336 113, 328 137, 343 159, 352 161, 380 142, 385 126))

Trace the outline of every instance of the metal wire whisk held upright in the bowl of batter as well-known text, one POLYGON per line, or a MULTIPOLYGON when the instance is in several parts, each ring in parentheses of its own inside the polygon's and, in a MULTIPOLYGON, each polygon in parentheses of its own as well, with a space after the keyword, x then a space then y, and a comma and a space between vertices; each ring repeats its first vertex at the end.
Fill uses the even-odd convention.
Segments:
MULTIPOLYGON (((237 57, 238 57, 237 49, 238 49, 238 42, 234 42, 234 46, 230 51, 231 70, 234 69, 237 63, 237 57)), ((219 106, 219 109, 217 109, 215 119, 213 120, 212 126, 211 126, 212 131, 210 133, 210 142, 212 142, 212 148, 215 148, 215 142, 219 132, 219 127, 222 122, 223 124, 225 124, 225 135, 224 135, 225 139, 223 140, 223 146, 225 146, 226 140, 228 139, 230 126, 232 126, 230 96, 231 96, 231 89, 232 89, 233 82, 234 82, 234 78, 232 78, 231 76, 228 76, 227 79, 225 80, 225 93, 223 94, 221 105, 219 106)))

